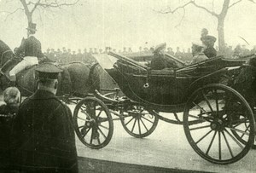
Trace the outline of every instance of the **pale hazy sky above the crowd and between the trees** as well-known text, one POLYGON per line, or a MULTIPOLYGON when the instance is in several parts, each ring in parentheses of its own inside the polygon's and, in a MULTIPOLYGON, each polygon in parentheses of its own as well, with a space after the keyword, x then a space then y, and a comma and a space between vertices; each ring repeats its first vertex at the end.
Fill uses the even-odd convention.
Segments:
MULTIPOLYGON (((236 2, 236 0, 231 2, 236 2)), ((217 35, 217 20, 201 9, 189 6, 184 20, 183 10, 176 14, 159 14, 155 10, 170 6, 175 9, 186 0, 80 0, 74 7, 61 10, 42 11, 41 17, 34 16, 38 32, 36 37, 43 49, 47 48, 102 48, 110 46, 116 49, 139 46, 148 48, 166 42, 176 49, 188 49, 192 42, 200 42, 201 29, 206 27, 210 34, 217 35)), ((196 2, 218 12, 223 0, 197 0, 196 2)), ((0 11, 14 11, 20 6, 17 0, 0 0, 0 11), (5 3, 8 2, 8 3, 5 3)), ((26 16, 20 11, 7 20, 7 13, 0 13, 0 39, 14 49, 26 37, 26 16)), ((256 45, 256 4, 244 0, 230 9, 225 20, 226 43, 232 45, 256 45)))

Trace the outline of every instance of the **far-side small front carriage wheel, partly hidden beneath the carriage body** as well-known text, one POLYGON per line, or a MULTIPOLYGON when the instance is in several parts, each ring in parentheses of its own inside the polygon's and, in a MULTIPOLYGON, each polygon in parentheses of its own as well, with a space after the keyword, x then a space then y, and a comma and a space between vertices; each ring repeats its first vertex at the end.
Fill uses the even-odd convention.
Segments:
POLYGON ((133 105, 122 112, 121 123, 125 131, 134 137, 149 136, 155 130, 159 118, 150 114, 142 106, 133 105))

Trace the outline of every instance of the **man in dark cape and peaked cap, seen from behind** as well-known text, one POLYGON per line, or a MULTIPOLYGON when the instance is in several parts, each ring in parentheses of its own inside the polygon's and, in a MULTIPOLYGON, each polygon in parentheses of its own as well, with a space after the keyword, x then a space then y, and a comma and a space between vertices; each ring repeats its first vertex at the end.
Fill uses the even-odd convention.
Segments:
POLYGON ((61 69, 36 68, 38 90, 20 105, 14 119, 11 158, 24 172, 78 172, 72 112, 55 97, 61 69))

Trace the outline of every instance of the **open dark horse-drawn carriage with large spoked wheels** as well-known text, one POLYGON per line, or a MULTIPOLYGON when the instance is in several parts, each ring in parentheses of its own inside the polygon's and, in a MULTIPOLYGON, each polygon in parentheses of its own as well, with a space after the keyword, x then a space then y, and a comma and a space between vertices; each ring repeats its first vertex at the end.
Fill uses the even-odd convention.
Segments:
POLYGON ((119 89, 103 89, 112 93, 102 95, 96 90, 79 101, 73 122, 87 147, 108 145, 114 119, 139 138, 149 136, 159 119, 183 124, 191 147, 215 164, 234 163, 253 146, 252 107, 229 86, 244 61, 217 57, 187 66, 170 56, 177 68, 157 71, 124 55, 95 58, 125 96, 114 95, 119 89))

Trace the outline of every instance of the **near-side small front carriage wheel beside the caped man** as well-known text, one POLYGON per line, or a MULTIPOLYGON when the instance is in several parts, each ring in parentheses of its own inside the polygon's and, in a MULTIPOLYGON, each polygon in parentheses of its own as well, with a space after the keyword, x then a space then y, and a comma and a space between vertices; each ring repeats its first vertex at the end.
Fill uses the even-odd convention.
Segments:
POLYGON ((79 101, 74 109, 73 124, 79 140, 92 149, 107 146, 113 136, 111 113, 95 97, 86 97, 79 101))

